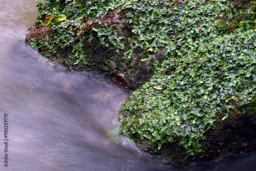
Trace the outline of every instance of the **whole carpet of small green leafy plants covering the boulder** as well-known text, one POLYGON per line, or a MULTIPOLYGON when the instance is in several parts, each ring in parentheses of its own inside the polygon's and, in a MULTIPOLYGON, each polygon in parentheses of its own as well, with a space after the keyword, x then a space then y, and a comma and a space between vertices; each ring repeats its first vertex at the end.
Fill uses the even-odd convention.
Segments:
MULTIPOLYGON (((70 55, 77 58, 76 63, 80 60, 86 63, 83 34, 79 34, 84 27, 82 16, 89 24, 92 19, 100 24, 99 18, 116 8, 125 11, 125 24, 134 33, 122 58, 130 59, 137 47, 147 52, 144 61, 154 59, 153 54, 160 50, 166 51, 163 62, 155 61, 151 81, 135 91, 121 109, 124 136, 132 138, 139 133, 141 138, 157 142, 159 148, 165 142, 179 139, 179 145, 190 151, 201 146, 199 140, 207 138, 203 134, 215 127, 215 121, 237 111, 233 103, 241 114, 256 110, 254 2, 249 8, 239 6, 239 9, 233 4, 242 1, 227 0, 191 0, 183 4, 170 0, 38 0, 37 3, 40 12, 37 26, 45 26, 45 18, 53 13, 55 16, 48 24, 53 30, 52 40, 46 37, 32 42, 36 50, 50 49, 46 56, 60 55, 71 46, 70 55), (63 15, 67 20, 59 22, 63 15)), ((118 52, 124 49, 123 37, 118 34, 121 29, 122 25, 105 24, 90 33, 96 32, 106 47, 108 38, 118 52)), ((93 34, 90 36, 93 39, 93 34)), ((198 151, 200 148, 194 152, 198 151)))

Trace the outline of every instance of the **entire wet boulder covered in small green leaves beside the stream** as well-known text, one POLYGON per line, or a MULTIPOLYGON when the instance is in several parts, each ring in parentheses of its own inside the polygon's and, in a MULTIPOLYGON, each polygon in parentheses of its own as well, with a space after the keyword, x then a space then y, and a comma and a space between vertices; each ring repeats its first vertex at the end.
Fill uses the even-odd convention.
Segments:
POLYGON ((185 167, 255 148, 254 2, 37 3, 33 48, 137 89, 121 108, 120 133, 142 151, 185 167))

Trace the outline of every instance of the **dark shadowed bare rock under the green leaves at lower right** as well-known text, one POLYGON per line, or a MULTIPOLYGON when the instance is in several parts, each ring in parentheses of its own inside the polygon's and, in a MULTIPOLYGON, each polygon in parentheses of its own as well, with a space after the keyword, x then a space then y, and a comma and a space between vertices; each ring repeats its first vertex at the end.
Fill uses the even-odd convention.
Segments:
POLYGON ((145 152, 151 153, 156 160, 172 164, 175 167, 186 167, 187 165, 200 160, 211 161, 227 155, 244 154, 253 151, 256 144, 256 115, 232 113, 225 120, 216 122, 216 129, 207 130, 204 135, 207 137, 201 140, 200 147, 204 153, 189 155, 185 148, 179 145, 179 138, 174 142, 164 143, 158 149, 159 140, 152 143, 147 138, 141 139, 139 133, 133 135, 136 145, 145 152))

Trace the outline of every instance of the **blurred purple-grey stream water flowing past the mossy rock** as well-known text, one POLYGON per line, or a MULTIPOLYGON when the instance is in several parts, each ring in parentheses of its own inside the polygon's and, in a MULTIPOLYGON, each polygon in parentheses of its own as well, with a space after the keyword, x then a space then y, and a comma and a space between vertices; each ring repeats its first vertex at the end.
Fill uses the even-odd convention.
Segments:
MULTIPOLYGON (((0 170, 177 170, 111 132, 129 92, 99 75, 69 73, 25 44, 34 0, 0 2, 0 170)), ((255 170, 255 159, 227 155, 184 170, 255 170)))

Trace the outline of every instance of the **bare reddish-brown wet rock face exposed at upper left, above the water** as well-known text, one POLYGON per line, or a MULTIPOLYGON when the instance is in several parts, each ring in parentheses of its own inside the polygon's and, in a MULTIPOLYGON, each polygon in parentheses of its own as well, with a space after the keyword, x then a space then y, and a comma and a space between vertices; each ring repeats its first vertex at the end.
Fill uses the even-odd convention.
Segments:
MULTIPOLYGON (((136 38, 131 30, 125 26, 124 15, 124 11, 115 9, 106 13, 104 17, 97 18, 100 24, 91 19, 89 23, 83 24, 84 27, 81 30, 72 30, 74 32, 73 36, 76 39, 72 45, 59 48, 59 51, 56 53, 52 53, 52 49, 58 46, 53 40, 53 36, 56 36, 56 31, 54 32, 53 29, 34 25, 30 32, 27 33, 26 41, 41 54, 48 56, 55 62, 64 63, 68 70, 97 71, 112 77, 115 82, 122 84, 125 88, 137 89, 152 77, 155 58, 143 61, 142 59, 148 58, 148 53, 140 47, 133 50, 130 58, 124 58, 126 49, 131 48, 132 40, 130 39, 136 38), (115 25, 113 29, 118 28, 117 36, 123 37, 121 40, 123 44, 122 49, 117 51, 115 46, 111 44, 108 36, 103 36, 104 42, 102 44, 97 32, 93 29, 101 28, 105 25, 115 25), (49 44, 53 44, 51 45, 52 48, 41 45, 42 42, 47 41, 49 44), (75 45, 76 41, 79 41, 79 45, 75 45), (78 61, 77 56, 74 55, 74 50, 76 49, 72 46, 80 46, 79 50, 83 53, 83 60, 78 61)), ((42 22, 45 22, 45 20, 42 22)), ((164 54, 162 56, 159 53, 154 55, 160 58, 164 57, 164 54)), ((160 58, 157 59, 161 60, 160 58)))

